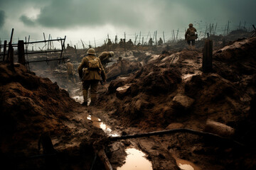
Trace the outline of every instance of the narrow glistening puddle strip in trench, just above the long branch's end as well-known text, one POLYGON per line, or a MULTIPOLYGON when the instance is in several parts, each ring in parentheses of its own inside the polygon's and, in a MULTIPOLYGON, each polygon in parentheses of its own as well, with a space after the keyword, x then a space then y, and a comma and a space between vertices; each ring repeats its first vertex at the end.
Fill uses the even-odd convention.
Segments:
POLYGON ((92 120, 92 125, 94 125, 97 128, 101 128, 107 135, 110 135, 112 137, 119 136, 117 133, 111 130, 109 125, 102 123, 102 120, 100 118, 96 118, 95 116, 88 115, 87 120, 92 120))

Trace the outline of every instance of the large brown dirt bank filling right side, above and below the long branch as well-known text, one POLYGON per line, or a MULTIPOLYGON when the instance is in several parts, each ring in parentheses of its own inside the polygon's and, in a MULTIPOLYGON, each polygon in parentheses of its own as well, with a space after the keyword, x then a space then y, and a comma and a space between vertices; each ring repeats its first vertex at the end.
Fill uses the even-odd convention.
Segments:
MULTIPOLYGON (((151 55, 134 74, 112 80, 99 101, 107 111, 114 110, 110 118, 119 120, 128 134, 133 129, 151 132, 173 127, 202 131, 212 120, 232 129, 233 140, 246 147, 188 134, 154 140, 169 154, 175 152, 202 169, 255 169, 255 40, 237 40, 213 52, 213 72, 207 74, 201 72, 200 50, 151 55)), ((150 140, 138 140, 139 145, 149 147, 150 140)))

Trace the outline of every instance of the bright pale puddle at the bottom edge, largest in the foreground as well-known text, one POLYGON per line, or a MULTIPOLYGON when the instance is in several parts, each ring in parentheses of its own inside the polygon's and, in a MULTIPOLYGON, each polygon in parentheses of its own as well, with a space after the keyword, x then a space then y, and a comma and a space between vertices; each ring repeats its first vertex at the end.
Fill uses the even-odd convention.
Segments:
POLYGON ((123 166, 118 167, 117 170, 151 170, 152 164, 145 158, 146 154, 138 149, 129 148, 126 149, 127 159, 123 166))

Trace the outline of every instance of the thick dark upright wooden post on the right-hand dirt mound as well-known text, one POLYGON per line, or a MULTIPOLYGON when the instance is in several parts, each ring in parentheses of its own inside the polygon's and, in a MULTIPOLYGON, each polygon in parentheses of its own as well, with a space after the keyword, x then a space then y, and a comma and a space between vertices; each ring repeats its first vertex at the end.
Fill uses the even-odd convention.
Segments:
POLYGON ((203 72, 210 72, 213 67, 213 40, 206 40, 203 47, 203 72))

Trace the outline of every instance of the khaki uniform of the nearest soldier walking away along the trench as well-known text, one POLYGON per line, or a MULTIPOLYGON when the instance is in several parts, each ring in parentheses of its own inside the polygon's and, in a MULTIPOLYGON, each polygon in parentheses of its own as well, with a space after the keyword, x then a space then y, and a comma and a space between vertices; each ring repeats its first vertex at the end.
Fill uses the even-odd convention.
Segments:
POLYGON ((100 59, 98 57, 95 57, 95 55, 88 55, 88 57, 84 57, 82 59, 82 62, 80 63, 78 67, 78 73, 79 77, 82 79, 82 94, 84 96, 84 103, 87 104, 87 91, 89 88, 91 88, 91 105, 95 103, 95 100, 97 98, 97 85, 100 81, 100 77, 102 77, 102 80, 106 80, 106 74, 105 70, 102 67, 102 64, 100 62, 100 59), (89 70, 89 60, 97 60, 100 63, 100 69, 99 70, 89 70))

